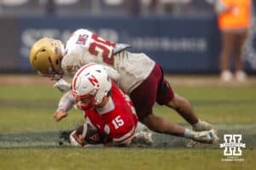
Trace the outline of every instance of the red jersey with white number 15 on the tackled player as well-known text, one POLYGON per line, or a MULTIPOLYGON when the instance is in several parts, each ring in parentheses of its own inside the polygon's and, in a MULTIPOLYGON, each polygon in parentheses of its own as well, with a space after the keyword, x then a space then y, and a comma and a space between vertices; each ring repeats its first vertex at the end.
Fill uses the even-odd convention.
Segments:
POLYGON ((108 104, 103 108, 82 108, 86 120, 115 143, 129 143, 137 127, 137 115, 131 99, 112 83, 108 104))

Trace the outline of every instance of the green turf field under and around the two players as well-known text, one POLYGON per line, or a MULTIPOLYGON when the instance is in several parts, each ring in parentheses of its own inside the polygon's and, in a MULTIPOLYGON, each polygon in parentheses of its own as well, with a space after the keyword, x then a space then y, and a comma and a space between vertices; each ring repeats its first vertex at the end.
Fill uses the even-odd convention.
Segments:
MULTIPOLYGON (((242 134, 241 162, 223 162, 218 144, 188 149, 186 139, 154 133, 144 148, 76 149, 59 145, 61 130, 83 121, 79 111, 54 122, 61 93, 45 85, 0 85, 0 169, 255 169, 256 86, 178 86, 198 116, 224 133, 242 134)), ((187 125, 175 111, 155 106, 155 113, 187 125)))

